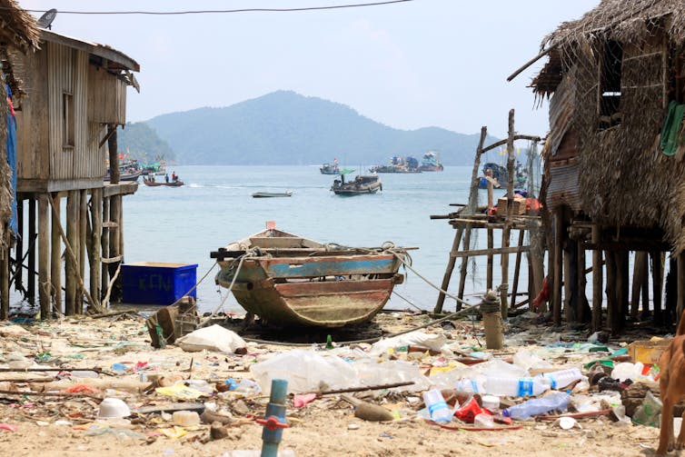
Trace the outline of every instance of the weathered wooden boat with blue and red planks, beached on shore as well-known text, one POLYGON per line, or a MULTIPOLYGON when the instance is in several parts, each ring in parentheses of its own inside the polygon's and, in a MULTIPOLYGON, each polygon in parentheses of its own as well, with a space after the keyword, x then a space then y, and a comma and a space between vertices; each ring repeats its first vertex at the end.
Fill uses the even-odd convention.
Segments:
POLYGON ((370 321, 402 283, 406 250, 318 243, 269 228, 211 253, 216 283, 266 323, 341 327, 370 321), (402 259, 402 260, 401 260, 402 259))

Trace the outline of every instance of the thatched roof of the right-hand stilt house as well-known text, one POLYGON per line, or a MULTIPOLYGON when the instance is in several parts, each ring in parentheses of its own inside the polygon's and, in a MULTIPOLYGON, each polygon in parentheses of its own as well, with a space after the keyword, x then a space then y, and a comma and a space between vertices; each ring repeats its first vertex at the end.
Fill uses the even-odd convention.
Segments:
POLYGON ((580 19, 562 23, 545 36, 541 51, 550 61, 531 86, 536 94, 549 95, 561 82, 560 70, 574 60, 579 49, 588 49, 598 39, 613 39, 623 45, 640 45, 654 35, 656 27, 672 41, 685 41, 685 2, 682 0, 601 0, 580 19))

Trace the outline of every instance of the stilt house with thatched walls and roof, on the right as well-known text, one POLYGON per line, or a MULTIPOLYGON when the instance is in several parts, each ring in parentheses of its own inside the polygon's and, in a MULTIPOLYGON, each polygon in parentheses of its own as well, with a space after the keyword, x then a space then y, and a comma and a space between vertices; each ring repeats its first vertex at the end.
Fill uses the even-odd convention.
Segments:
POLYGON ((532 88, 550 98, 543 198, 554 320, 620 332, 641 300, 670 325, 685 303, 685 4, 602 0, 547 36, 543 56, 532 88))

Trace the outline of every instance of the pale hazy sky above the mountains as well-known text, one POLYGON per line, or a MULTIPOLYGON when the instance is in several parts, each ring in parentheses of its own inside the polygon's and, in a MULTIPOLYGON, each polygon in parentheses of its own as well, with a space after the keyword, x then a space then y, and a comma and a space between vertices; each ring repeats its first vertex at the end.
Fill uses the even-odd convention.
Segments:
MULTIPOLYGON (((372 2, 373 0, 367 0, 372 2)), ((19 0, 25 9, 184 11, 350 5, 360 0, 19 0)), ((545 134, 526 87, 544 35, 599 0, 414 0, 342 10, 210 15, 58 14, 55 32, 111 45, 140 65, 128 120, 227 106, 284 89, 348 104, 401 129, 545 134)), ((34 15, 38 16, 39 13, 34 15)))

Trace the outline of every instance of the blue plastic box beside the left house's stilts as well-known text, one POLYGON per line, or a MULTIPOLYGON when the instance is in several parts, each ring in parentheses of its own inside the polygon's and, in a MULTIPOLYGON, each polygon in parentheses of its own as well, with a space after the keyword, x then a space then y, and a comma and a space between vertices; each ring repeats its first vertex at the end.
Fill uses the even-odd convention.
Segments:
MULTIPOLYGON (((197 263, 139 262, 122 264, 124 303, 174 303, 196 283, 197 263)), ((196 290, 190 293, 196 297, 196 290)))

